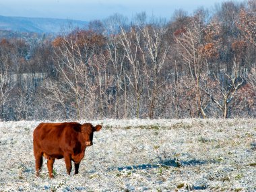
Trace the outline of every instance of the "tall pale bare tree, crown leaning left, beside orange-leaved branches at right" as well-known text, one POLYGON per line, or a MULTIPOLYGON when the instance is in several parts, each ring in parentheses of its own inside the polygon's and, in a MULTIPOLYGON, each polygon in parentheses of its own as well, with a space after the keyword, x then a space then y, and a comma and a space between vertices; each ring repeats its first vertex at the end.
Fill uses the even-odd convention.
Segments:
POLYGON ((201 74, 205 70, 205 58, 201 48, 203 47, 203 33, 205 26, 201 15, 191 18, 189 26, 176 33, 177 49, 183 61, 189 67, 191 80, 195 86, 195 106, 197 115, 206 117, 202 104, 201 74))

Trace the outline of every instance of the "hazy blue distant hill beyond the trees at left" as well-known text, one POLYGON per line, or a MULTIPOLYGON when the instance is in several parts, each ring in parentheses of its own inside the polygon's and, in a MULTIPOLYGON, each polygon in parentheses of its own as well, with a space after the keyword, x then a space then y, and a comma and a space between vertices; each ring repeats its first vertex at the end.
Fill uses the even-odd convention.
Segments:
POLYGON ((54 18, 23 18, 5 17, 0 15, 0 30, 10 30, 14 32, 36 32, 57 34, 62 28, 88 26, 88 22, 78 20, 64 20, 54 18))

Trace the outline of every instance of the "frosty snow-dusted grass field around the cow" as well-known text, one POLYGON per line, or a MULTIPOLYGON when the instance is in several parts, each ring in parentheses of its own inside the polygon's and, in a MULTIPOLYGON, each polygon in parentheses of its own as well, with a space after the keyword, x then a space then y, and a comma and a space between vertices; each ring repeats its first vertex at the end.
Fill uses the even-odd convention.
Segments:
POLYGON ((79 174, 56 160, 54 179, 46 160, 35 177, 40 122, 0 123, 0 191, 256 191, 256 119, 90 122, 103 129, 79 174))

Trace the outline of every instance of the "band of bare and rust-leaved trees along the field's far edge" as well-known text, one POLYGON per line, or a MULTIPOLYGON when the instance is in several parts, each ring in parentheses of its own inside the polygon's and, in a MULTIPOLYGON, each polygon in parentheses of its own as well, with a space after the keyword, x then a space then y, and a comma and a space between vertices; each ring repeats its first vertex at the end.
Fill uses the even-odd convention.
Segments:
POLYGON ((0 119, 256 117, 256 1, 0 40, 0 119))

